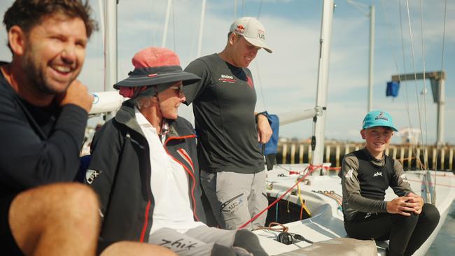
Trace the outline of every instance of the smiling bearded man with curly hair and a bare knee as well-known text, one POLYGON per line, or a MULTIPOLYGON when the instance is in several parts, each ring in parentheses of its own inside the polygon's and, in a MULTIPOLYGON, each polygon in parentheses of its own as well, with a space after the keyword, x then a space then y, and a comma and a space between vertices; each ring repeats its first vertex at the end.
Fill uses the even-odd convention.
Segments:
POLYGON ((0 252, 94 255, 97 197, 62 183, 76 177, 92 107, 76 80, 96 27, 90 6, 17 0, 3 23, 13 59, 0 64, 0 252))

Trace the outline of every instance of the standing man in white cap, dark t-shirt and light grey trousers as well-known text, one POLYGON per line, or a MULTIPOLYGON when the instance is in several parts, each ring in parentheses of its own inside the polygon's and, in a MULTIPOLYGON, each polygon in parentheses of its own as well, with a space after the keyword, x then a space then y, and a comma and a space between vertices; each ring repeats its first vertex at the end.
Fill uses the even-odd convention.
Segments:
MULTIPOLYGON (((202 187, 225 229, 237 229, 267 207, 258 141, 267 143, 272 129, 264 114, 254 113, 256 94, 247 69, 261 48, 272 52, 264 27, 253 17, 241 17, 232 23, 222 52, 196 59, 185 69, 202 78, 183 91, 195 113, 202 187)), ((266 216, 247 228, 264 225, 266 216)))

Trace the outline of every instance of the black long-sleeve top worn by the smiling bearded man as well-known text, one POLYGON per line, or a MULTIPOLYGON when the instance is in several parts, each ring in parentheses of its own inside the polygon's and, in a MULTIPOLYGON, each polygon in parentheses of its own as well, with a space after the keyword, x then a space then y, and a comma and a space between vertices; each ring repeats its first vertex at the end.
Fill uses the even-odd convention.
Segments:
POLYGON ((86 125, 83 108, 33 106, 0 71, 0 197, 73 180, 86 125))

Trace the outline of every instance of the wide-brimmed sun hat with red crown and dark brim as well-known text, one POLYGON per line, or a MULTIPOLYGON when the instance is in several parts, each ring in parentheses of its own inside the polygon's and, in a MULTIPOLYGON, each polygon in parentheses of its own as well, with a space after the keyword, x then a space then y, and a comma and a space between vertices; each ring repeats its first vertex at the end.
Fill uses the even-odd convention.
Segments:
MULTIPOLYGON (((128 78, 113 85, 120 87, 141 87, 152 85, 169 85, 182 81, 183 85, 195 83, 201 78, 193 73, 183 71, 179 56, 167 48, 149 47, 137 52, 132 59, 134 70, 128 78)), ((167 87, 158 86, 158 92, 167 87)))

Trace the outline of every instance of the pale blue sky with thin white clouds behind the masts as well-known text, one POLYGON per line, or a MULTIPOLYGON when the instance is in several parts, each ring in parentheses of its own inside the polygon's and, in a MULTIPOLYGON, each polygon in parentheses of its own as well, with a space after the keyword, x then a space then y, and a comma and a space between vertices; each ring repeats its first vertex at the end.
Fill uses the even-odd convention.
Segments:
MULTIPOLYGON (((101 24, 99 2, 90 1, 101 24)), ((13 0, 0 2, 0 13, 13 0)), ((280 114, 316 105, 322 1, 207 0, 201 55, 223 50, 235 17, 257 17, 266 30, 272 54, 260 50, 249 68, 258 94, 256 111, 280 114), (237 6, 236 6, 237 2, 237 6)), ((446 72, 444 142, 454 145, 455 132, 455 1, 444 0, 335 1, 328 75, 325 139, 362 141, 361 122, 367 113, 370 17, 374 5, 374 82, 372 108, 391 113, 395 127, 422 129, 423 144, 436 141, 437 105, 430 81, 408 81, 398 97, 386 97, 386 83, 398 73, 446 72), (407 6, 407 2, 409 7, 407 6), (407 15, 409 9, 409 17, 407 15), (423 17, 423 19, 421 19, 423 17), (409 32, 409 27, 411 32, 409 32), (423 29, 422 29, 423 28, 423 29), (444 41, 443 41, 444 38, 444 41), (443 50, 444 49, 444 50, 443 50), (421 94, 423 88, 427 94, 421 94), (419 103, 419 104, 417 104, 419 103)), ((181 58, 183 68, 197 58, 202 0, 173 0, 165 47, 181 58)), ((118 3, 118 79, 133 69, 131 58, 148 46, 162 46, 167 0, 120 0, 118 3)), ((101 26, 100 26, 101 27, 101 26)), ((4 27, 0 31, 0 59, 10 60, 4 27)), ((90 92, 104 90, 102 29, 90 38, 79 80, 90 92)), ((111 85, 107 85, 109 90, 111 85)), ((181 115, 189 120, 190 108, 181 115)), ((89 122, 90 124, 90 122, 89 122)), ((312 122, 302 120, 280 127, 280 136, 309 138, 312 122)), ((400 143, 399 134, 393 143, 400 143)))

